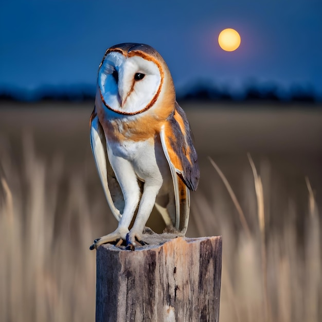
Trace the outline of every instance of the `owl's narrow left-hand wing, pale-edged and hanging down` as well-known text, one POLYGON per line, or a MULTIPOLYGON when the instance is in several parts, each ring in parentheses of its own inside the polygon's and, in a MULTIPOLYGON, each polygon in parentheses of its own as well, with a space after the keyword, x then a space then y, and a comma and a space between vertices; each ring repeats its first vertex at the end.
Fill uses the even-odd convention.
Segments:
POLYGON ((92 152, 106 200, 108 201, 114 217, 120 221, 122 216, 121 213, 124 209, 124 198, 109 162, 109 157, 106 152, 104 130, 99 122, 95 108, 91 115, 90 126, 92 152))

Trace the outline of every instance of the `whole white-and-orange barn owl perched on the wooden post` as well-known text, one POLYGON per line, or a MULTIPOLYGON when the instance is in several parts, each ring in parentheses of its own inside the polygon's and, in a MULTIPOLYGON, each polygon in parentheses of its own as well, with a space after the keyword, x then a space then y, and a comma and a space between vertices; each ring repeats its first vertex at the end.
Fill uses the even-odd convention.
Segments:
POLYGON ((184 236, 189 190, 199 167, 187 116, 175 98, 169 68, 145 44, 123 43, 106 50, 99 66, 91 146, 108 204, 118 220, 100 244, 144 244, 153 207, 167 226, 184 236))

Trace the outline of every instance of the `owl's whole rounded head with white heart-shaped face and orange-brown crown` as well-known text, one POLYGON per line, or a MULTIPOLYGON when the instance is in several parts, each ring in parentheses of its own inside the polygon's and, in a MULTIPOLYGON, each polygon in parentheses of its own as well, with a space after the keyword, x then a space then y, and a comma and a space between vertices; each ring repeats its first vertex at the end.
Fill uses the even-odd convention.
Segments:
POLYGON ((104 105, 119 114, 145 112, 161 98, 175 101, 167 64, 144 44, 124 43, 106 50, 97 85, 104 105))

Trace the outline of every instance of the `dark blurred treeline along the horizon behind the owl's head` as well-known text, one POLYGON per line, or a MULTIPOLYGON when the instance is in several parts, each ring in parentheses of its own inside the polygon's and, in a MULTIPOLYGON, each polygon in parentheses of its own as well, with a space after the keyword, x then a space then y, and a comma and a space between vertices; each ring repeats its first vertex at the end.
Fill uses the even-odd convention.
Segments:
MULTIPOLYGON (((96 86, 43 86, 38 90, 25 91, 19 88, 0 88, 0 101, 88 101, 95 99, 96 86)), ((271 102, 298 102, 320 103, 312 88, 294 85, 289 91, 281 90, 276 85, 245 86, 242 93, 229 90, 219 90, 211 85, 196 84, 180 91, 179 101, 271 101, 271 102)))

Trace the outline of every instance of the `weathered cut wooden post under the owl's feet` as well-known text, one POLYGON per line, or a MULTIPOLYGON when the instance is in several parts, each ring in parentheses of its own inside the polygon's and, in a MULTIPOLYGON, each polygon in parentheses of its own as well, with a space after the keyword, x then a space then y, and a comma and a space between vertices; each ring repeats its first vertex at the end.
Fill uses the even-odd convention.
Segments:
POLYGON ((218 322, 221 236, 144 240, 134 252, 98 247, 96 322, 218 322))

